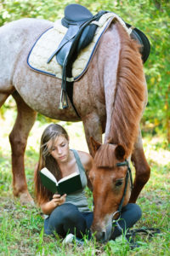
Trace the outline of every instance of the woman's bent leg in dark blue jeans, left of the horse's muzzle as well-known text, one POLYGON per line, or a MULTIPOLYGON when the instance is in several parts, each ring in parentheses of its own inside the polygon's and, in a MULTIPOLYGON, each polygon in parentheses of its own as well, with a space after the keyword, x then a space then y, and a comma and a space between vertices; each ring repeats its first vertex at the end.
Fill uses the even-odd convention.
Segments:
POLYGON ((47 235, 56 232, 65 237, 66 234, 71 233, 82 238, 82 235, 87 234, 87 230, 86 218, 70 203, 56 207, 44 222, 44 231, 47 235))

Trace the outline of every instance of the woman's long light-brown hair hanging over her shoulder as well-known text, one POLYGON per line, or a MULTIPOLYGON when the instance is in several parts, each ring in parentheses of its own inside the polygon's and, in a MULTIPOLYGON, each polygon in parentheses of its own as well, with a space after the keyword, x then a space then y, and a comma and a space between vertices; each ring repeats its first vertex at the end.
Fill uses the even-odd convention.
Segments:
POLYGON ((40 171, 43 167, 46 167, 48 171, 54 174, 56 179, 59 179, 59 166, 57 161, 54 160, 54 157, 50 154, 51 148, 54 146, 54 142, 57 137, 63 136, 69 140, 68 134, 61 125, 51 124, 43 131, 41 143, 40 143, 40 152, 39 160, 34 173, 34 184, 35 184, 35 195, 38 205, 41 205, 43 202, 48 201, 53 197, 53 194, 46 189, 40 179, 40 171), (51 142, 50 148, 48 147, 48 142, 51 142))

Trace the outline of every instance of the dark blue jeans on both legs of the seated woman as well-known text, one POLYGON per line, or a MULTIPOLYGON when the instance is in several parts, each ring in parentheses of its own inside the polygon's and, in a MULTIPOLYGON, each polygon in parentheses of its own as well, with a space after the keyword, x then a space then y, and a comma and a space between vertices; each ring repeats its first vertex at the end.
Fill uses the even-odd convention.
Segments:
MULTIPOLYGON (((140 207, 129 203, 126 207, 122 207, 121 219, 118 223, 122 230, 125 231, 131 228, 141 218, 141 215, 140 207)), ((47 235, 58 233, 59 236, 63 237, 68 233, 76 234, 79 238, 82 238, 83 235, 88 235, 88 238, 90 238, 90 227, 93 219, 93 212, 80 212, 76 206, 65 203, 56 207, 49 217, 45 219, 44 232, 47 235)), ((116 236, 120 235, 122 235, 122 231, 115 227, 111 239, 114 240, 116 236)))

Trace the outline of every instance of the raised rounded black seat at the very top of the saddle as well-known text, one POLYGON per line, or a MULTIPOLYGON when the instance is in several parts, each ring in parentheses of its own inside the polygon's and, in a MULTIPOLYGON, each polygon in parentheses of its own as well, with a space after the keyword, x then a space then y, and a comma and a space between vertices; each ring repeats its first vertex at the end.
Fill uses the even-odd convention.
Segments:
POLYGON ((84 21, 92 18, 92 13, 84 6, 73 3, 65 7, 65 17, 61 20, 63 26, 82 24, 84 21))

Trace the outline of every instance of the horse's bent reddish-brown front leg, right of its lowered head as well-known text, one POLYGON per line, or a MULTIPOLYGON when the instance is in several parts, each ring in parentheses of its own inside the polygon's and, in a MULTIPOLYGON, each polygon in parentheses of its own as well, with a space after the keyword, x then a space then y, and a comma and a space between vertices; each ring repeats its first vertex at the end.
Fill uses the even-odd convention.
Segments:
POLYGON ((148 165, 144 155, 144 148, 140 131, 138 140, 134 144, 131 160, 133 161, 133 165, 135 167, 135 178, 133 182, 133 191, 129 202, 136 202, 140 191, 143 189, 145 183, 147 183, 150 178, 150 166, 148 165))

